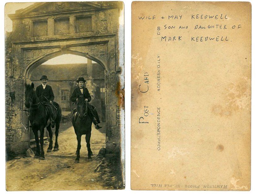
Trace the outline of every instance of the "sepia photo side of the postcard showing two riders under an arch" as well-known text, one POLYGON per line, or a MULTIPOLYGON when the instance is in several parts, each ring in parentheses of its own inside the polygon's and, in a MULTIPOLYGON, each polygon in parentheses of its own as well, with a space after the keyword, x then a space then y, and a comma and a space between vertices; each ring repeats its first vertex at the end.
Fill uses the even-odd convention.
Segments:
POLYGON ((124 4, 5 5, 6 190, 125 188, 124 4))

